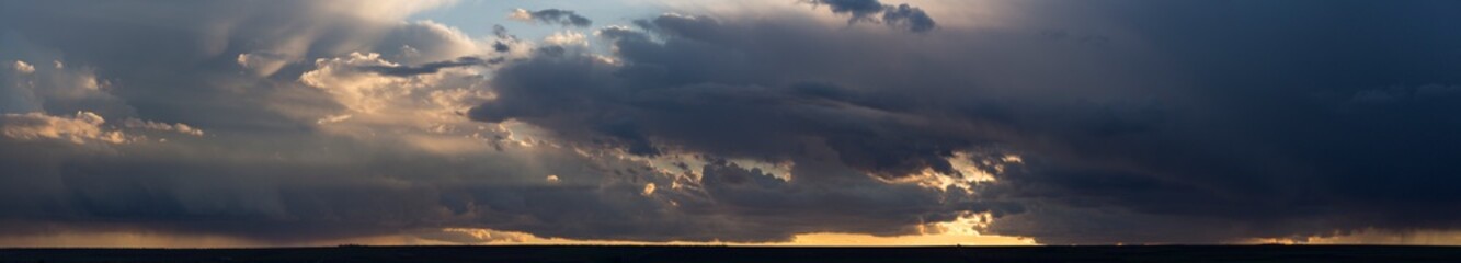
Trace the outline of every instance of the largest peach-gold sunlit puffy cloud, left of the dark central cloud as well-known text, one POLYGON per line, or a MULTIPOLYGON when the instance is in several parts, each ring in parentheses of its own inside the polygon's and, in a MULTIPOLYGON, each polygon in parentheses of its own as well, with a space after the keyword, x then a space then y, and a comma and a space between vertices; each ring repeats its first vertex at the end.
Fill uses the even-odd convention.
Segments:
POLYGON ((440 69, 435 73, 393 76, 367 67, 405 67, 380 54, 320 58, 300 82, 321 89, 345 107, 343 113, 310 117, 326 133, 380 140, 378 134, 438 153, 494 149, 511 133, 501 126, 475 123, 460 113, 491 99, 487 80, 473 69, 440 69))

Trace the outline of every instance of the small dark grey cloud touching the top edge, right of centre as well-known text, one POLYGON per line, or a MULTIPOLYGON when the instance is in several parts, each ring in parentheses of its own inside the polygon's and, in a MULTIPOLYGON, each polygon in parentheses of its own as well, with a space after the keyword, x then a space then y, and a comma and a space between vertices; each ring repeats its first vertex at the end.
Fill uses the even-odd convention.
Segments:
POLYGON ((809 0, 812 4, 827 4, 833 13, 850 15, 849 23, 866 20, 877 22, 881 13, 882 23, 901 26, 913 32, 928 32, 937 25, 923 9, 909 4, 882 4, 878 0, 809 0))

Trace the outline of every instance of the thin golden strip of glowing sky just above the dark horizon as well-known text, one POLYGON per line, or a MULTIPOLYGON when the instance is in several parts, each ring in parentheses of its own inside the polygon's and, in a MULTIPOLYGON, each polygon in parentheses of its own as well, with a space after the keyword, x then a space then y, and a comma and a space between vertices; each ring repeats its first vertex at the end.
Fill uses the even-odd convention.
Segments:
MULTIPOLYGON (((168 248, 229 248, 229 247, 335 247, 335 245, 747 245, 747 247, 913 247, 913 245, 1040 245, 1031 238, 983 235, 969 218, 955 222, 931 224, 925 234, 875 237, 868 234, 812 232, 798 234, 783 243, 719 243, 719 241, 617 241, 542 238, 524 232, 478 228, 447 228, 441 232, 479 238, 475 243, 428 240, 419 235, 378 235, 310 243, 270 243, 225 235, 177 235, 161 232, 51 232, 42 235, 0 237, 0 247, 168 247, 168 248), (942 228, 942 229, 939 229, 942 228)), ((1461 231, 1360 231, 1334 237, 1309 237, 1305 241, 1284 238, 1255 238, 1236 244, 1388 244, 1388 245, 1461 245, 1461 231)))

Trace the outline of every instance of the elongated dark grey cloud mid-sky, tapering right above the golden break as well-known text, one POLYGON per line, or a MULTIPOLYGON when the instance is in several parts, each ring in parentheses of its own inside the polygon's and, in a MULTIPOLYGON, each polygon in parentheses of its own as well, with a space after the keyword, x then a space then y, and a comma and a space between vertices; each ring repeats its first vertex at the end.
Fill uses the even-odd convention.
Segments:
POLYGON ((796 56, 790 54, 795 50, 782 50, 796 47, 757 44, 805 32, 757 31, 760 25, 722 25, 678 15, 638 23, 671 38, 655 42, 641 32, 605 29, 600 35, 614 41, 625 66, 577 56, 519 63, 494 79, 500 96, 511 99, 473 108, 469 115, 526 120, 568 137, 617 142, 640 155, 659 153, 652 137, 695 150, 770 159, 805 152, 799 145, 817 140, 837 150, 836 158, 846 165, 887 178, 923 168, 953 174, 945 158, 983 140, 963 133, 989 133, 910 114, 919 108, 910 101, 916 98, 904 94, 820 82, 842 77, 834 73, 839 69, 821 64, 833 57, 796 56), (818 76, 817 69, 833 75, 818 76))

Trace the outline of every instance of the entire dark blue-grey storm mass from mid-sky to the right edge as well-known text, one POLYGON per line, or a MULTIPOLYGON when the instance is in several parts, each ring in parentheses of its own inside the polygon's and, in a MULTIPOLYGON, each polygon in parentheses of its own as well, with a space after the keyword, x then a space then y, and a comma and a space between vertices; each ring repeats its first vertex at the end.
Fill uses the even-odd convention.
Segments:
POLYGON ((1026 162, 977 193, 1040 207, 991 231, 1043 243, 1454 229, 1461 104, 1445 94, 1461 83, 1461 34, 1439 25, 1457 7, 1034 1, 1020 15, 1048 19, 1029 28, 923 39, 672 15, 602 31, 622 64, 503 69, 501 98, 470 117, 640 155, 831 158, 885 178, 1011 149, 1026 162), (1039 37, 1052 26, 1121 34, 1068 45, 1039 37))

